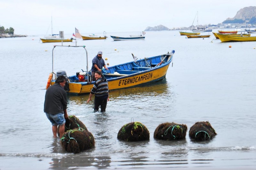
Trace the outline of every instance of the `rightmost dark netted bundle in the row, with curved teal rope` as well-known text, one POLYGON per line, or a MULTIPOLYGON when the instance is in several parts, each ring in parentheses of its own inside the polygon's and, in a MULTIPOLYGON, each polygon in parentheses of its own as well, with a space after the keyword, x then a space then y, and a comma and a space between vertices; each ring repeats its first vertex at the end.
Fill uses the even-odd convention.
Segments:
POLYGON ((189 137, 195 139, 196 141, 210 140, 215 137, 217 133, 212 128, 212 125, 206 122, 196 122, 189 129, 189 137))

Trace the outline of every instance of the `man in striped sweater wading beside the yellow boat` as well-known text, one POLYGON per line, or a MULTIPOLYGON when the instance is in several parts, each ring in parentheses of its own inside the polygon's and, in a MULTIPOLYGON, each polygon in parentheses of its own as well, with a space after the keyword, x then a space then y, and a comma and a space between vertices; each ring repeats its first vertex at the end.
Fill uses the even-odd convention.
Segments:
POLYGON ((100 106, 100 112, 105 112, 107 107, 107 102, 109 101, 108 82, 105 78, 102 78, 101 71, 95 72, 95 78, 96 78, 96 81, 92 87, 87 103, 89 103, 89 101, 91 100, 92 95, 95 94, 94 112, 98 112, 99 106, 100 106))

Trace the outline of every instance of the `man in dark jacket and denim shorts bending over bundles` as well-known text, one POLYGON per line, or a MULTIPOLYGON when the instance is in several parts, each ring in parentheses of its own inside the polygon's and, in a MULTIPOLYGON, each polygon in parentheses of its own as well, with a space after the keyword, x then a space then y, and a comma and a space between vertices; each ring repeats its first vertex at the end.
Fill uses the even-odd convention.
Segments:
POLYGON ((59 76, 54 85, 51 85, 45 93, 44 112, 52 123, 53 137, 57 138, 57 129, 59 125, 60 137, 65 132, 65 118, 67 114, 67 94, 64 90, 66 77, 59 76), (64 113, 64 115, 63 115, 64 113))

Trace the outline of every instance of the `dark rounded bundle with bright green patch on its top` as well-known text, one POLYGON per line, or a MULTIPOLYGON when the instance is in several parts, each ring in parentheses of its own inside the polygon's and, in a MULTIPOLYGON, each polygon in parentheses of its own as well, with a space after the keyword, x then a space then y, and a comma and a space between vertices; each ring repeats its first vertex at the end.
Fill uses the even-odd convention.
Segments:
POLYGON ((149 140, 149 131, 145 125, 140 122, 131 122, 125 124, 118 132, 117 139, 124 141, 144 141, 149 140))

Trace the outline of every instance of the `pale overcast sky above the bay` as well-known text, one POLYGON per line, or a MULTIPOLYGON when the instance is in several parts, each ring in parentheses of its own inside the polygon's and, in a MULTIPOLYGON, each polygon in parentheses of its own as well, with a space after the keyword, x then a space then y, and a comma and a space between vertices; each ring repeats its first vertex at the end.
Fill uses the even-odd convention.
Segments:
POLYGON ((197 11, 199 25, 218 24, 249 6, 255 0, 0 0, 0 26, 21 35, 140 32, 189 27, 197 11))

